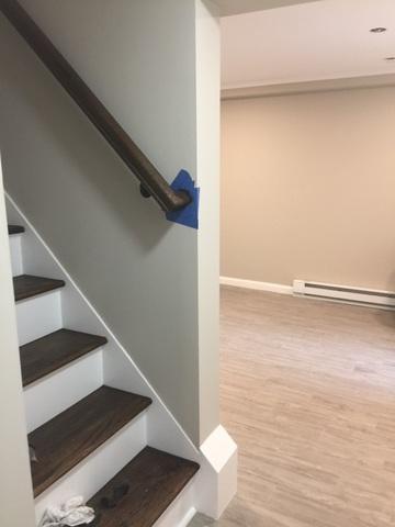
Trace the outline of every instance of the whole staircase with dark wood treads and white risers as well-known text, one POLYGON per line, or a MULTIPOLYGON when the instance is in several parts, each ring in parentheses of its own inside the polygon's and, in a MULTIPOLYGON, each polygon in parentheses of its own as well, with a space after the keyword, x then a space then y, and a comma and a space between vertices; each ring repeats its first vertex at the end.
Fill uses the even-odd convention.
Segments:
POLYGON ((64 327, 70 305, 74 319, 82 312, 64 302, 71 284, 24 273, 41 261, 45 273, 46 257, 37 258, 32 233, 24 245, 24 227, 9 225, 9 236, 37 520, 49 504, 83 494, 93 527, 185 525, 182 496, 199 464, 147 445, 153 397, 105 384, 116 378, 104 358, 111 337, 91 324, 64 327))

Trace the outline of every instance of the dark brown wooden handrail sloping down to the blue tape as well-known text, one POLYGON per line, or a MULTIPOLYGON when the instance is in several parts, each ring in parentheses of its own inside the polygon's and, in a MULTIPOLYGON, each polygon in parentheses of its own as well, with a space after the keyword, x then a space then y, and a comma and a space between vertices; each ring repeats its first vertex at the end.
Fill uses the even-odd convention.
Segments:
POLYGON ((187 206, 192 201, 190 194, 187 191, 176 192, 169 186, 20 3, 16 0, 0 0, 0 11, 138 178, 142 194, 153 197, 166 212, 187 206))

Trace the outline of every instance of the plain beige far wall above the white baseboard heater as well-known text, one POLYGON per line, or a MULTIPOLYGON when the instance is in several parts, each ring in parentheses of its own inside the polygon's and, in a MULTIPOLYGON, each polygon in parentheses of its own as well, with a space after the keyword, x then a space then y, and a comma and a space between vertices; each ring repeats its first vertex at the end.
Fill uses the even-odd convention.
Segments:
POLYGON ((222 276, 395 290, 395 88, 223 102, 222 276))

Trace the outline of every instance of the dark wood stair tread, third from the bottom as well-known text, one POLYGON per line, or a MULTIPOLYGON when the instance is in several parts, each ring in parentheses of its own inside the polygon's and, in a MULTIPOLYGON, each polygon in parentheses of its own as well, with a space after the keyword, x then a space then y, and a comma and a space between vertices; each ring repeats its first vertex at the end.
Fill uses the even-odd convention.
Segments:
POLYGON ((26 386, 106 344, 105 337, 58 329, 20 347, 22 381, 26 386))

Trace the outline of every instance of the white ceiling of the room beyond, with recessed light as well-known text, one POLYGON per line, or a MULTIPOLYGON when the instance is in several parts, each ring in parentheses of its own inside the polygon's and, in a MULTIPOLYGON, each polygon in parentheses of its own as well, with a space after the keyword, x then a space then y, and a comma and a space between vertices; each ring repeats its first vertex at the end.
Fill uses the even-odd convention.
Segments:
POLYGON ((320 0, 222 19, 223 89, 395 74, 392 56, 395 0, 320 0), (387 31, 371 33, 376 26, 387 31))

